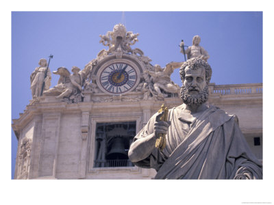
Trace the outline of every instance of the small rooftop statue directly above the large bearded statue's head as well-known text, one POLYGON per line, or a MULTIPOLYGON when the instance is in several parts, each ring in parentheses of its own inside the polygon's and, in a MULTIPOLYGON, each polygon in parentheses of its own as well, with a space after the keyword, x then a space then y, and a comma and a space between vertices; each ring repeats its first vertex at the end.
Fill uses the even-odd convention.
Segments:
POLYGON ((193 37, 192 46, 189 46, 188 49, 186 49, 186 55, 188 59, 192 57, 200 57, 201 59, 208 61, 210 56, 208 55, 208 52, 205 49, 203 49, 202 46, 199 46, 200 42, 201 42, 200 36, 193 37))

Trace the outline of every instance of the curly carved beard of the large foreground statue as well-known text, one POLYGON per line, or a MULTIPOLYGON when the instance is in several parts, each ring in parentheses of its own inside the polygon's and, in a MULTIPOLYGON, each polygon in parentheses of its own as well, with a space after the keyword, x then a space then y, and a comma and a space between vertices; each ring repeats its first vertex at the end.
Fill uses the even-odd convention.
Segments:
POLYGON ((184 85, 181 87, 181 98, 186 105, 201 105, 208 100, 208 85, 202 91, 199 91, 199 94, 189 94, 192 89, 195 89, 195 87, 189 87, 188 90, 184 85))

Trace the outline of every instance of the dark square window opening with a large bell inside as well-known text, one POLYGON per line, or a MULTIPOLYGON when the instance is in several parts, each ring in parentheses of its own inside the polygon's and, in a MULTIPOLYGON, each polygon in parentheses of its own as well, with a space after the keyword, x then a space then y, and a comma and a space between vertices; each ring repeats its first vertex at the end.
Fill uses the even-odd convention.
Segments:
POLYGON ((136 122, 97 123, 94 167, 133 167, 128 150, 136 135, 136 122))

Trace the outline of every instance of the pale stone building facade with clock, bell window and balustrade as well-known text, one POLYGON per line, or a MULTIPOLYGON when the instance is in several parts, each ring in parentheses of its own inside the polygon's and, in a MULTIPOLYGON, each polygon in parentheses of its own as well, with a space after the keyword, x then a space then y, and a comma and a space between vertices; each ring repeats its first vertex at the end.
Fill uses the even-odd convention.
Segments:
MULTIPOLYGON (((182 104, 170 76, 183 62, 152 66, 138 33, 115 25, 101 36, 108 46, 82 71, 58 68, 58 85, 34 97, 13 120, 18 139, 16 179, 151 179, 154 169, 134 166, 133 137, 162 104, 182 104), (77 81, 77 79, 80 79, 77 81), (78 84, 82 90, 77 89, 78 84)), ((253 153, 262 161, 262 83, 209 85, 208 103, 236 114, 253 153)))

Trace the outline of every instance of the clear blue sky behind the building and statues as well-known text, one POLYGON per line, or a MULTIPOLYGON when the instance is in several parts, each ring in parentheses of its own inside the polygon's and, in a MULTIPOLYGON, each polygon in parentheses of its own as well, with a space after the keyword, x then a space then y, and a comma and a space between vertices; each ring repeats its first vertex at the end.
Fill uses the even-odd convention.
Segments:
MULTIPOLYGON (((262 83, 262 12, 12 12, 12 119, 32 98, 29 76, 40 58, 53 55, 51 72, 64 66, 83 69, 106 47, 100 34, 124 23, 139 33, 132 48, 141 49, 151 64, 164 67, 184 61, 179 43, 200 45, 209 55, 212 83, 262 83)), ((181 85, 179 69, 171 78, 181 85)), ((58 75, 52 74, 51 87, 58 75)), ((17 140, 12 131, 12 176, 17 140)))

